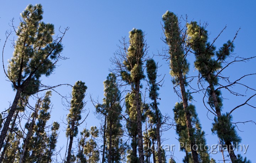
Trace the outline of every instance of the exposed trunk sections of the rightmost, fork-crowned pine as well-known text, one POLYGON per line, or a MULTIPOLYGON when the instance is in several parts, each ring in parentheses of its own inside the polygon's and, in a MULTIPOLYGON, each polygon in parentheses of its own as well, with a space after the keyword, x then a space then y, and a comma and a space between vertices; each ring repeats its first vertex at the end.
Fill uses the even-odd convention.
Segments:
MULTIPOLYGON (((212 92, 211 96, 213 98, 215 111, 216 111, 216 114, 217 114, 218 120, 219 120, 219 118, 221 117, 221 112, 220 112, 219 103, 218 103, 218 100, 217 100, 217 95, 216 95, 214 86, 212 84, 212 78, 211 78, 210 74, 207 75, 207 82, 209 83, 209 87, 210 87, 210 90, 212 92)), ((232 146, 231 142, 227 141, 227 140, 224 140, 224 141, 225 141, 225 145, 227 145, 227 150, 228 150, 231 162, 236 163, 237 157, 235 155, 235 152, 234 152, 234 149, 233 149, 233 146, 232 146)))

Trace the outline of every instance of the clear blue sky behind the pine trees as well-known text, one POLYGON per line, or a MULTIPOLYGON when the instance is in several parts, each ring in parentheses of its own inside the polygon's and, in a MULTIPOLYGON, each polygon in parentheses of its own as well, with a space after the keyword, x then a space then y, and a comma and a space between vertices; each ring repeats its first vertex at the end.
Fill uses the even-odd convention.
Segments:
MULTIPOLYGON (((91 125, 99 126, 93 114, 94 107, 89 101, 89 94, 95 99, 103 98, 103 81, 108 75, 108 68, 111 63, 109 61, 113 52, 117 50, 117 44, 122 36, 128 37, 128 32, 132 28, 139 28, 145 31, 146 40, 149 47, 149 54, 157 54, 158 50, 161 52, 164 43, 160 40, 163 32, 161 29, 162 15, 167 11, 172 11, 177 15, 188 15, 188 20, 207 22, 207 27, 210 32, 210 40, 213 40, 219 32, 227 25, 227 29, 216 41, 216 46, 221 46, 225 41, 233 39, 236 30, 241 27, 237 39, 235 40, 235 55, 241 57, 255 56, 255 35, 256 35, 256 2, 249 1, 185 1, 185 0, 160 0, 160 1, 93 1, 93 0, 55 0, 55 1, 39 1, 39 0, 20 0, 20 1, 1 1, 0 2, 0 47, 3 47, 5 40, 5 31, 10 29, 9 23, 12 18, 15 18, 15 25, 19 23, 20 13, 28 4, 41 3, 43 5, 44 15, 43 21, 53 23, 55 25, 56 33, 58 28, 64 29, 70 27, 65 38, 63 39, 64 51, 63 55, 69 57, 69 60, 59 62, 54 74, 49 78, 43 78, 44 84, 59 84, 68 83, 73 85, 75 81, 82 80, 86 83, 88 89, 86 96, 86 108, 90 109, 90 114, 86 119, 87 127, 91 125)), ((16 36, 13 35, 15 38, 16 36)), ((4 64, 7 65, 7 59, 12 57, 14 51, 11 47, 11 42, 7 43, 4 52, 4 64)), ((197 75, 197 71, 193 71, 193 56, 188 58, 191 62, 190 75, 197 75)), ((178 97, 174 93, 171 77, 169 75, 168 64, 156 57, 156 61, 162 64, 160 68, 161 74, 166 74, 164 88, 160 89, 160 109, 163 113, 170 114, 173 117, 172 108, 178 97)), ((231 66, 226 70, 224 75, 230 76, 231 79, 237 79, 239 76, 247 73, 255 73, 256 61, 252 60, 248 63, 239 63, 231 66)), ((10 82, 6 81, 4 73, 0 71, 0 103, 1 111, 9 106, 9 102, 14 99, 14 91, 11 88, 10 82)), ((254 86, 255 77, 243 80, 244 83, 254 86)), ((255 87, 254 87, 255 88, 255 87)), ((236 88, 245 93, 245 89, 236 88)), ((61 94, 69 94, 70 87, 62 87, 57 89, 61 94)), ((248 96, 252 92, 246 92, 248 96)), ((194 102, 197 108, 199 119, 201 120, 203 130, 206 132, 208 144, 216 144, 218 139, 216 135, 212 135, 210 131, 212 121, 206 116, 207 110, 202 105, 202 95, 193 95, 194 102)), ((235 106, 243 103, 246 97, 234 97, 228 92, 223 92, 223 96, 228 99, 224 100, 224 112, 230 111, 235 106)), ((61 97, 53 93, 52 96, 53 112, 52 119, 61 122, 60 118, 65 117, 68 113, 64 111, 65 107, 62 105, 61 97)), ((251 100, 251 105, 255 105, 255 99, 251 100)), ((241 107, 234 113, 234 122, 242 122, 246 120, 254 120, 255 109, 249 107, 241 107)), ((213 118, 212 115, 209 116, 213 118)), ((82 127, 85 127, 83 124, 82 127)), ((81 128, 82 128, 81 127, 81 128)), ((249 145, 246 154, 247 158, 252 162, 256 162, 255 150, 255 129, 256 125, 247 123, 239 125, 239 135, 242 137, 241 144, 249 145)), ((64 126, 61 128, 58 147, 66 144, 64 136, 64 126)), ((164 144, 175 144, 175 153, 177 162, 181 162, 185 153, 178 151, 178 141, 175 139, 177 135, 174 129, 170 129, 163 134, 167 139, 164 144)), ((236 154, 238 152, 235 152, 236 154)), ((170 153, 167 153, 170 154, 170 153)), ((225 153, 227 154, 227 152, 225 153)), ((214 159, 220 160, 221 154, 212 154, 214 159)), ((217 161, 218 162, 218 161, 217 161)))

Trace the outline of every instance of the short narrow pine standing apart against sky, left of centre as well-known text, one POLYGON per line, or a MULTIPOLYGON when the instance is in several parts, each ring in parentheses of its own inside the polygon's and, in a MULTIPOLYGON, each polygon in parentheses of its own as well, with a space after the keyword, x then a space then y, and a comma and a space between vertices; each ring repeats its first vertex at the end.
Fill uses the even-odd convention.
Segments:
POLYGON ((82 81, 77 81, 72 89, 72 99, 69 114, 67 116, 68 127, 66 129, 66 137, 69 138, 68 154, 66 163, 70 163, 71 150, 74 137, 78 135, 79 120, 81 120, 82 109, 84 108, 84 97, 87 86, 82 81))

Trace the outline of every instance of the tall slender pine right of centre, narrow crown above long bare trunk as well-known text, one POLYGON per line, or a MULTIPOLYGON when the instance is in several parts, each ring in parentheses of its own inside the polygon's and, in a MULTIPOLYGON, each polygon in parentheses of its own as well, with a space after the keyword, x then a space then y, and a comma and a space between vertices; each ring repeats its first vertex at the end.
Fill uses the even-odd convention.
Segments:
POLYGON ((169 46, 169 59, 171 68, 170 74, 173 77, 173 83, 180 86, 180 94, 183 102, 187 134, 189 143, 191 145, 192 158, 194 163, 199 163, 197 149, 194 148, 196 145, 196 140, 193 134, 191 113, 188 109, 188 97, 186 93, 186 75, 189 71, 189 63, 186 59, 187 51, 184 51, 184 46, 186 45, 186 35, 182 35, 178 18, 173 12, 167 11, 162 16, 162 19, 164 21, 165 42, 169 46))

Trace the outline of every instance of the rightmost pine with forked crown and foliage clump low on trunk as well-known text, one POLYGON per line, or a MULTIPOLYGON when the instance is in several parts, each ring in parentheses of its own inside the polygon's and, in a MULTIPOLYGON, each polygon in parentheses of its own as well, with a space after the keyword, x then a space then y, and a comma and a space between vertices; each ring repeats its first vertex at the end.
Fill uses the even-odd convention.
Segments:
MULTIPOLYGON (((231 115, 222 114, 223 98, 220 89, 215 89, 219 85, 218 70, 222 68, 222 63, 234 51, 233 41, 227 41, 219 50, 208 42, 208 32, 204 27, 200 27, 197 22, 187 24, 188 46, 193 50, 196 61, 195 67, 202 78, 209 84, 207 94, 209 105, 215 109, 217 117, 214 118, 212 131, 217 133, 222 144, 225 144, 232 163, 240 160, 236 157, 232 144, 240 142, 241 138, 236 133, 234 125, 231 123, 231 115), (217 59, 216 59, 217 58, 217 59)), ((241 160, 240 160, 241 161, 241 160)))

